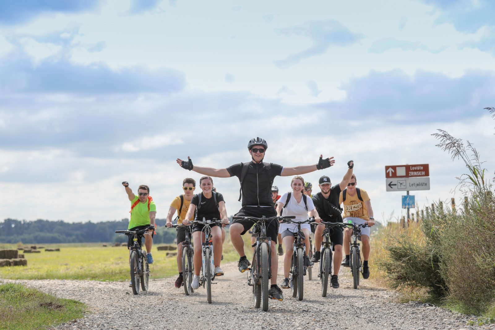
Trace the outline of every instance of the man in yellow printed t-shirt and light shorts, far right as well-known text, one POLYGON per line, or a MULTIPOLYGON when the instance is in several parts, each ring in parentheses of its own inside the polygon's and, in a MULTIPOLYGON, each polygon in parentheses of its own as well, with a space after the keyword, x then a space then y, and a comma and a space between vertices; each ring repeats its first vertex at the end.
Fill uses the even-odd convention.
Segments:
MULTIPOLYGON (((340 193, 339 205, 344 203, 344 223, 352 223, 361 225, 367 223, 368 226, 375 224, 373 217, 373 209, 371 208, 371 201, 368 193, 364 189, 359 189, 359 193, 356 187, 356 176, 352 174, 347 189, 344 189, 340 193), (344 193, 346 193, 346 200, 344 200, 344 193)), ((346 229, 344 231, 344 251, 346 252, 346 260, 342 263, 343 266, 349 267, 349 253, 350 253, 350 237, 352 236, 352 229, 346 229)), ((370 228, 361 228, 361 241, 363 246, 363 278, 367 279, 370 276, 368 267, 368 258, 370 256, 370 228)))

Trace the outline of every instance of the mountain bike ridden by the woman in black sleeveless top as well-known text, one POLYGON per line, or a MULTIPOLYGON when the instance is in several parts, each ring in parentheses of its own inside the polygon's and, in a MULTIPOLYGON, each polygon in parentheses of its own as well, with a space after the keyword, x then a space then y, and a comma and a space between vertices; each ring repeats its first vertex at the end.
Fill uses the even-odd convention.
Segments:
POLYGON ((213 244, 211 243, 211 225, 213 224, 222 224, 221 220, 212 219, 206 220, 195 220, 190 221, 193 225, 204 225, 201 230, 204 233, 204 243, 202 243, 203 247, 203 264, 201 267, 201 277, 199 278, 199 285, 206 288, 206 300, 208 304, 211 304, 211 282, 215 280, 215 276, 221 276, 221 274, 215 274, 215 264, 213 261, 213 244))

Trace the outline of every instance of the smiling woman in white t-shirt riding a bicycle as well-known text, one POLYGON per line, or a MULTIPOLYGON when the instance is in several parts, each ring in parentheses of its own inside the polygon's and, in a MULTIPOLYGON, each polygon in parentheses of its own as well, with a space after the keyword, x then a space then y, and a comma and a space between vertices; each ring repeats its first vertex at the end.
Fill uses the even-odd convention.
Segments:
MULTIPOLYGON (((320 222, 320 216, 316 211, 313 201, 308 196, 304 195, 304 179, 300 176, 292 178, 291 181, 291 197, 289 203, 287 203, 287 196, 289 192, 286 192, 277 201, 277 216, 283 212, 284 216, 296 216, 294 221, 302 222, 309 219, 309 216, 314 217, 316 222, 320 222), (304 202, 305 198, 305 202, 304 202), (285 204, 287 206, 284 208, 285 204)), ((303 242, 306 244, 306 253, 309 251, 309 235, 311 235, 311 226, 309 224, 301 225, 302 232, 304 233, 305 239, 303 242)), ((282 282, 282 288, 288 289, 289 284, 289 272, 291 270, 291 260, 294 253, 294 233, 297 233, 296 224, 284 224, 281 223, 279 227, 279 234, 282 235, 282 244, 284 245, 285 257, 284 257, 284 281, 282 282)), ((309 257, 305 256, 306 266, 311 266, 311 261, 309 257)))

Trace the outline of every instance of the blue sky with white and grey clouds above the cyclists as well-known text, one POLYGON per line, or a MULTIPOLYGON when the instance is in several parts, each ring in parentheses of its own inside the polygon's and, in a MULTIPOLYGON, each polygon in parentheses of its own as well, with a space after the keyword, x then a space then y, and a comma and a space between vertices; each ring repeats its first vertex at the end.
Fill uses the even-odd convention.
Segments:
MULTIPOLYGON (((224 168, 257 136, 283 166, 334 156, 315 186, 354 160, 377 219, 404 214, 386 165, 430 164, 416 202, 459 203, 466 169, 431 134, 473 142, 493 177, 494 3, 0 1, 0 219, 122 219, 122 181, 163 218, 200 177, 177 157, 224 168)), ((214 185, 237 212, 238 180, 214 185)))

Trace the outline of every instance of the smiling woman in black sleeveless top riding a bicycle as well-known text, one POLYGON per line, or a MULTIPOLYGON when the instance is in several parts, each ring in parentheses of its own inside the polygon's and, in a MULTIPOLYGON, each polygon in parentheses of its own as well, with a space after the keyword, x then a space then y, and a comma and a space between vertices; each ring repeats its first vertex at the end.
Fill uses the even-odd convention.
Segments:
MULTIPOLYGON (((220 220, 224 224, 229 223, 227 217, 227 209, 225 208, 225 201, 223 195, 220 192, 212 191, 213 179, 209 176, 203 176, 199 179, 199 188, 202 192, 193 196, 191 199, 191 205, 187 211, 186 218, 182 222, 187 225, 191 219, 202 221, 205 220, 220 220), (195 216, 196 213, 196 216, 195 216)), ((199 272, 201 271, 202 263, 202 242, 204 242, 204 233, 202 232, 205 225, 197 224, 193 226, 193 242, 194 242, 194 279, 191 283, 193 289, 199 287, 199 272)), ((220 261, 222 259, 222 230, 219 224, 211 223, 211 241, 213 243, 213 261, 214 272, 216 275, 223 275, 223 271, 220 268, 220 261)))

